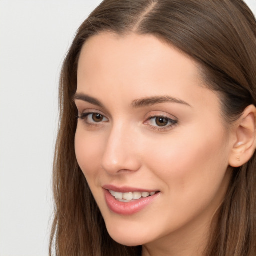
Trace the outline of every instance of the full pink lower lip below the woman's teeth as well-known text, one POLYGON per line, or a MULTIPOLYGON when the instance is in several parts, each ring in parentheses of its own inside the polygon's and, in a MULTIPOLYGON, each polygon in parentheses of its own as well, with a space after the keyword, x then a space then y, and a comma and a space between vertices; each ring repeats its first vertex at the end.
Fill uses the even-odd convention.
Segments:
POLYGON ((111 211, 121 215, 131 215, 139 212, 148 204, 150 204, 159 193, 150 195, 148 197, 141 197, 140 199, 132 200, 130 202, 120 202, 116 200, 108 190, 104 189, 106 204, 111 211))

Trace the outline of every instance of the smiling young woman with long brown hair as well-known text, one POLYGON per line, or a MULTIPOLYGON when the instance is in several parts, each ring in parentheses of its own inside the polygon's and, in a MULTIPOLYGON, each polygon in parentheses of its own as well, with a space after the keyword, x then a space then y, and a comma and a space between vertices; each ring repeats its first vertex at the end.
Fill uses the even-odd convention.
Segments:
POLYGON ((256 21, 242 0, 105 0, 60 79, 57 255, 256 255, 256 21))

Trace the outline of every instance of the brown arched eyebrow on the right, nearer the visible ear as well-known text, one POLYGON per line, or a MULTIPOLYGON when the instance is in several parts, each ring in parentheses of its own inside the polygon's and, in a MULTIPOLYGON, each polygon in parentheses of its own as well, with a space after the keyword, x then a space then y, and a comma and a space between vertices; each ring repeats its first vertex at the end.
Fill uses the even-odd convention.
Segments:
POLYGON ((184 104, 191 107, 191 105, 189 105, 187 102, 178 98, 170 97, 170 96, 155 96, 155 97, 135 99, 132 101, 131 106, 133 108, 139 108, 139 107, 150 106, 150 105, 166 103, 166 102, 184 104))

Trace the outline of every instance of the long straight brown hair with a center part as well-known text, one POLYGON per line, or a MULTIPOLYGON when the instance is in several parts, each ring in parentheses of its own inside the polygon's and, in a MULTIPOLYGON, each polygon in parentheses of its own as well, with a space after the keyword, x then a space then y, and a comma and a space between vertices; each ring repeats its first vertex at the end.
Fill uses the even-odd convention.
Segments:
MULTIPOLYGON (((64 60, 53 190, 50 255, 139 255, 108 235, 74 152, 77 62, 88 37, 101 31, 153 34, 193 58, 217 91, 227 122, 256 101, 256 21, 242 0, 105 0, 81 24, 64 60)), ((256 159, 234 168, 212 222, 207 256, 256 255, 256 159)))

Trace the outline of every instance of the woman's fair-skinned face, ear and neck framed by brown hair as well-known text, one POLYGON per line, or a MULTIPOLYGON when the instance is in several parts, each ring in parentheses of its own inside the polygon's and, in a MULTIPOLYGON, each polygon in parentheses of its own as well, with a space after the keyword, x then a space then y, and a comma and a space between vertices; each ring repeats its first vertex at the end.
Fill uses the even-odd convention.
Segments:
POLYGON ((110 236, 143 256, 200 255, 228 166, 254 151, 255 107, 227 124, 197 64, 153 35, 90 37, 77 75, 76 157, 110 236))

